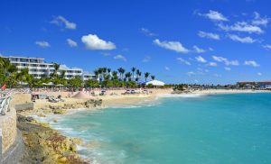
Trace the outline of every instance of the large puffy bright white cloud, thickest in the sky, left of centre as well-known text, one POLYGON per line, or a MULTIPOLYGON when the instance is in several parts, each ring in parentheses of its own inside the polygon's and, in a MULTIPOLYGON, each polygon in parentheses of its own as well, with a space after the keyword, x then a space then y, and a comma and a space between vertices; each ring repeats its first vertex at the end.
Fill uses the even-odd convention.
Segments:
POLYGON ((99 39, 96 34, 84 35, 81 41, 86 45, 88 50, 114 50, 116 45, 111 41, 99 39))

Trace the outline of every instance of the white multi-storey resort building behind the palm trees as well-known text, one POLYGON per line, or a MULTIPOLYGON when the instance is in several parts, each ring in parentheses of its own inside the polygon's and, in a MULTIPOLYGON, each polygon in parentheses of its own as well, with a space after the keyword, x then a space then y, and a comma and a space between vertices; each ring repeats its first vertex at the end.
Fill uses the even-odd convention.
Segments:
MULTIPOLYGON (((22 68, 28 68, 29 74, 33 77, 50 77, 51 73, 54 72, 53 63, 47 63, 42 58, 29 58, 29 57, 2 57, 9 59, 19 71, 22 68)), ((61 65, 58 71, 58 74, 61 75, 61 72, 65 71, 65 78, 70 79, 73 77, 81 77, 83 80, 88 80, 90 78, 95 78, 95 75, 84 72, 81 68, 68 68, 66 65, 61 65)))

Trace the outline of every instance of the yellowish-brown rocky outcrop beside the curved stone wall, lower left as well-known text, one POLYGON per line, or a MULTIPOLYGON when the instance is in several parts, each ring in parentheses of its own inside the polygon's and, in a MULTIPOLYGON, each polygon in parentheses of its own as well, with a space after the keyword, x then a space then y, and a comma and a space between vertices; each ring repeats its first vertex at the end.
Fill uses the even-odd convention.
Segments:
POLYGON ((21 163, 88 163, 76 153, 78 139, 69 139, 32 117, 18 115, 17 121, 25 145, 21 163))

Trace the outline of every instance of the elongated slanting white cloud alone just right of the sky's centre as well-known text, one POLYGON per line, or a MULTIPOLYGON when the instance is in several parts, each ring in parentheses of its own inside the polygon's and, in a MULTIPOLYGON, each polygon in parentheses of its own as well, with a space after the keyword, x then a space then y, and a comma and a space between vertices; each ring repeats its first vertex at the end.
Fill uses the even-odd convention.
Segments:
POLYGON ((185 47, 182 46, 182 43, 179 41, 159 41, 158 39, 154 40, 154 44, 157 46, 160 46, 167 50, 174 50, 176 52, 180 53, 187 53, 189 50, 187 50, 185 47))

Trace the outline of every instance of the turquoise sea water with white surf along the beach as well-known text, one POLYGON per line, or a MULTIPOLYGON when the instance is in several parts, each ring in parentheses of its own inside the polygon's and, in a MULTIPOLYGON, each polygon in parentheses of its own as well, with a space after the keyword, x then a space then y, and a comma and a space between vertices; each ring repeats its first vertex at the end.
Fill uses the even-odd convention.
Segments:
POLYGON ((271 94, 164 97, 82 111, 53 126, 93 163, 271 163, 271 94))

